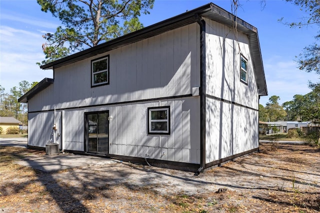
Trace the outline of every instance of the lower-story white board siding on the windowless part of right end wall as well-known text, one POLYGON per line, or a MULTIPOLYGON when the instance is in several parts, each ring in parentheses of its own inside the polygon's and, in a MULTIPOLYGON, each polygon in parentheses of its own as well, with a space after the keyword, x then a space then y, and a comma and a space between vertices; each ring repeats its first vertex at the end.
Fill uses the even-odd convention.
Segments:
POLYGON ((258 147, 258 112, 206 98, 206 163, 258 147))

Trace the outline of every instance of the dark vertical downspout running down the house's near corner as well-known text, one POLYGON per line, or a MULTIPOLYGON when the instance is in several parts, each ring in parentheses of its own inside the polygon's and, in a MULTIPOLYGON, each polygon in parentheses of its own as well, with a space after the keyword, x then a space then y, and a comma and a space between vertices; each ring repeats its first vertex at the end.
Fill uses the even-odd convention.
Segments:
POLYGON ((195 175, 205 168, 205 21, 195 14, 196 22, 200 26, 200 167, 195 175))

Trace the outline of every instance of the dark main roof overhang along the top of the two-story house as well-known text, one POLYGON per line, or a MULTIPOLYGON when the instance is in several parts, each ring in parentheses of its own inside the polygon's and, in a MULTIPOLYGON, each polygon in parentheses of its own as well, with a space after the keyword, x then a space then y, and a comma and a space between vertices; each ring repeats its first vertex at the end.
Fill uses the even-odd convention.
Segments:
MULTIPOLYGON (((67 65, 67 64, 71 64, 76 61, 79 61, 103 52, 107 52, 112 49, 130 44, 133 42, 137 42, 139 40, 142 40, 151 36, 155 36, 163 32, 166 32, 190 23, 194 23, 197 21, 198 16, 206 17, 228 26, 233 26, 236 21, 237 30, 247 34, 249 38, 249 47, 251 51, 251 58, 253 61, 254 75, 255 75, 257 87, 258 87, 258 94, 267 95, 266 81, 264 76, 264 69, 263 69, 257 29, 254 26, 250 25, 249 23, 245 22, 244 20, 238 17, 234 17, 233 14, 231 14, 230 12, 224 10, 223 8, 213 3, 205 4, 198 8, 192 9, 190 11, 184 12, 182 14, 176 15, 174 17, 168 18, 166 20, 160 21, 150 26, 144 27, 142 29, 123 35, 121 37, 112 39, 105 43, 101 43, 97 46, 82 50, 80 52, 71 54, 69 56, 55 60, 53 62, 44 64, 40 66, 40 68, 53 69, 53 68, 58 68, 58 67, 67 65)), ((20 97, 19 100, 22 97, 20 97)))

